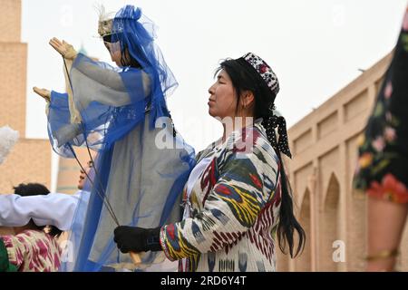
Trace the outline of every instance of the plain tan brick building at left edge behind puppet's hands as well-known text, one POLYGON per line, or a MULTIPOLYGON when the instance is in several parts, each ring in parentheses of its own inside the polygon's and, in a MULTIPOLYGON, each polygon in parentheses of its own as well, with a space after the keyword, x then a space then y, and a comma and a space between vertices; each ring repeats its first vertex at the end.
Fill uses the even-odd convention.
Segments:
POLYGON ((21 182, 40 182, 50 188, 50 143, 25 138, 27 43, 20 40, 21 1, 0 0, 0 7, 0 125, 20 133, 20 140, 0 167, 0 192, 11 192, 21 182))

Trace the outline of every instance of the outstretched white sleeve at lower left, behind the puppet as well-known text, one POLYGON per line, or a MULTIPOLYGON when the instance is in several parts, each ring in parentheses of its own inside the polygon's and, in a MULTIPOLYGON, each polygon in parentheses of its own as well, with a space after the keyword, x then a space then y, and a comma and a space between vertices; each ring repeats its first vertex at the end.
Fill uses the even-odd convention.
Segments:
POLYGON ((0 194, 0 226, 21 227, 31 218, 37 226, 53 225, 69 230, 80 197, 63 193, 21 197, 0 194))

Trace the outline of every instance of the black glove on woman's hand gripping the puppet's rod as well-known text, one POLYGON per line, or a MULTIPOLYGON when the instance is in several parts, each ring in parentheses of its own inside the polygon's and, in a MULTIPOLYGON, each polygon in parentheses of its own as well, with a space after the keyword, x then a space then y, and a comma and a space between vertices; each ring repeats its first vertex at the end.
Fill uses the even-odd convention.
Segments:
POLYGON ((113 240, 122 253, 162 250, 160 246, 160 227, 116 227, 113 240))

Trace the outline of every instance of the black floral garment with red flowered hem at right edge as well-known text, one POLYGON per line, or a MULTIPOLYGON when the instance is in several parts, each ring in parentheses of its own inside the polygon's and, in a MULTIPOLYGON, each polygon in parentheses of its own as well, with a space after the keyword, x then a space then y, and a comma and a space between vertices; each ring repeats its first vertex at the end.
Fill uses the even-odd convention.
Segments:
POLYGON ((393 61, 359 140, 354 187, 408 202, 408 7, 393 61))

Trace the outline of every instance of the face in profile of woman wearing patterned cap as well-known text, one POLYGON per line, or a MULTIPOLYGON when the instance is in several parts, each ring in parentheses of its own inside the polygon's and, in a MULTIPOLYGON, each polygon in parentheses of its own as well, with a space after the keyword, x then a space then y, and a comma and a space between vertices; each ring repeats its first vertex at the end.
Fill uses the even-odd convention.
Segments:
POLYGON ((224 119, 233 118, 237 108, 237 95, 228 73, 221 70, 217 81, 209 88, 209 115, 224 119))

